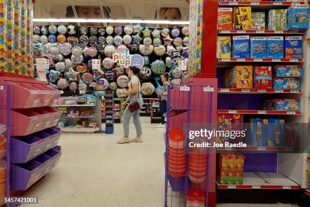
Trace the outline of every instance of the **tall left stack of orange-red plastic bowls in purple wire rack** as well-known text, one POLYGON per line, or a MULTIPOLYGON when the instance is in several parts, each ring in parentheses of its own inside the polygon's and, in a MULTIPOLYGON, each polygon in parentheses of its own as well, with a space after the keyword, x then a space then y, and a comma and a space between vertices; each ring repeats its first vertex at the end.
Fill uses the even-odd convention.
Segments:
POLYGON ((185 175, 186 154, 184 153, 184 136, 182 128, 171 127, 168 142, 168 172, 174 178, 185 175))

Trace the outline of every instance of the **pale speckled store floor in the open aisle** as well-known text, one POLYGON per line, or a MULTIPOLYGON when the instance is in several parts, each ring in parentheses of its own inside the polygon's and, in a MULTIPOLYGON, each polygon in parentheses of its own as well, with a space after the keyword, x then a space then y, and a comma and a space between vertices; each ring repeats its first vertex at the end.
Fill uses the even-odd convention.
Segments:
MULTIPOLYGON (((38 196, 40 204, 33 207, 164 206, 164 129, 149 124, 149 117, 141 121, 143 143, 117 144, 121 124, 114 134, 63 133, 59 164, 25 196, 38 196)), ((133 124, 130 129, 134 136, 133 124)))

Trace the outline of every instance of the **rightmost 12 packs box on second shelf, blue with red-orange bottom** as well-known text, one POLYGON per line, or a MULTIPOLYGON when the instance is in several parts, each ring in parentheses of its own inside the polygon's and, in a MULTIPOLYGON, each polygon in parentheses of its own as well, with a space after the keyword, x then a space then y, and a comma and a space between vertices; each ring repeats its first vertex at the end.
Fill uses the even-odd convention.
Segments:
POLYGON ((285 37, 285 58, 302 58, 302 37, 285 37))

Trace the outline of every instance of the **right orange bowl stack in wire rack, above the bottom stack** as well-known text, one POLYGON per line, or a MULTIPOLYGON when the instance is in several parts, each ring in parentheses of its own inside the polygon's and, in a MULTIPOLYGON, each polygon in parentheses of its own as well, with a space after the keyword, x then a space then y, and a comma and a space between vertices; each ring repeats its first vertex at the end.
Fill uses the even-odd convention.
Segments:
POLYGON ((207 155, 188 155, 188 178, 193 183, 202 183, 207 175, 207 155))

